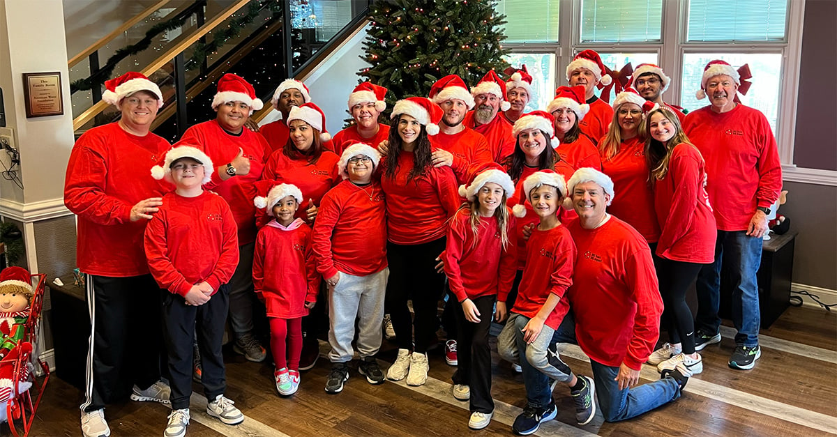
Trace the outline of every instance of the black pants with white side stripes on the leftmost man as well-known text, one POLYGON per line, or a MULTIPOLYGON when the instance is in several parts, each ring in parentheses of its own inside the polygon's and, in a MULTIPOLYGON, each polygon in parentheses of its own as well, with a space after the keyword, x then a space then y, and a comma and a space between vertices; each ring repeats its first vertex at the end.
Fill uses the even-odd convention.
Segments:
MULTIPOLYGON (((82 411, 105 408, 160 380, 159 287, 151 275, 86 276, 90 339, 82 411)), ((57 310, 57 311, 60 311, 57 310)))

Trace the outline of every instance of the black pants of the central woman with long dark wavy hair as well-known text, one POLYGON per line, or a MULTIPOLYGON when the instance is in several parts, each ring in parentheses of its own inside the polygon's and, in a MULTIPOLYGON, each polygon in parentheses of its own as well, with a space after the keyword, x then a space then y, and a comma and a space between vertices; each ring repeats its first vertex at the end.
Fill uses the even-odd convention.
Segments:
POLYGON ((436 337, 437 308, 444 290, 444 275, 436 273, 436 258, 444 250, 445 238, 423 244, 387 243, 389 280, 387 305, 393 320, 399 349, 412 349, 415 326, 415 352, 425 353, 436 337), (411 323, 407 301, 413 300, 415 320, 411 323))

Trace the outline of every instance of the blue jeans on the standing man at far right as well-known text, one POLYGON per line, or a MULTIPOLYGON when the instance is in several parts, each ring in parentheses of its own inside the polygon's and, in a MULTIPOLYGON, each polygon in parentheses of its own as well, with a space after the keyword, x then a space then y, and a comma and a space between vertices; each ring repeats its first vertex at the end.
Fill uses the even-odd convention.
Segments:
POLYGON ((715 262, 705 265, 697 275, 697 316, 695 328, 715 334, 721 326, 721 266, 732 275, 732 323, 737 329, 737 346, 758 345, 761 312, 758 307, 758 267, 762 264, 762 242, 747 231, 718 231, 715 262))

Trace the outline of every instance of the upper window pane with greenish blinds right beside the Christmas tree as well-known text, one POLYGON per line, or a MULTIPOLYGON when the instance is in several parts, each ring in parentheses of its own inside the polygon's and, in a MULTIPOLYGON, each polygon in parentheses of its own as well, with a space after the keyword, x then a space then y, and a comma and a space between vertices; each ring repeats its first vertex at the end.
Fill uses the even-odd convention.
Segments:
POLYGON ((495 9, 506 15, 506 43, 557 42, 560 3, 560 0, 500 0, 495 9))

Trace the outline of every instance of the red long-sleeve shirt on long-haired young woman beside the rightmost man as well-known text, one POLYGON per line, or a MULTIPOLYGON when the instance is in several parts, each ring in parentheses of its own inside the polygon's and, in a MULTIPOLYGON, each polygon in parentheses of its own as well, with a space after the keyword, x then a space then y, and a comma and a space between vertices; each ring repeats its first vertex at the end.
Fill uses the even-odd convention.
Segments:
POLYGON ((654 184, 660 222, 657 254, 668 260, 707 264, 715 260, 717 226, 706 194, 706 170, 696 147, 680 143, 669 172, 654 184))

